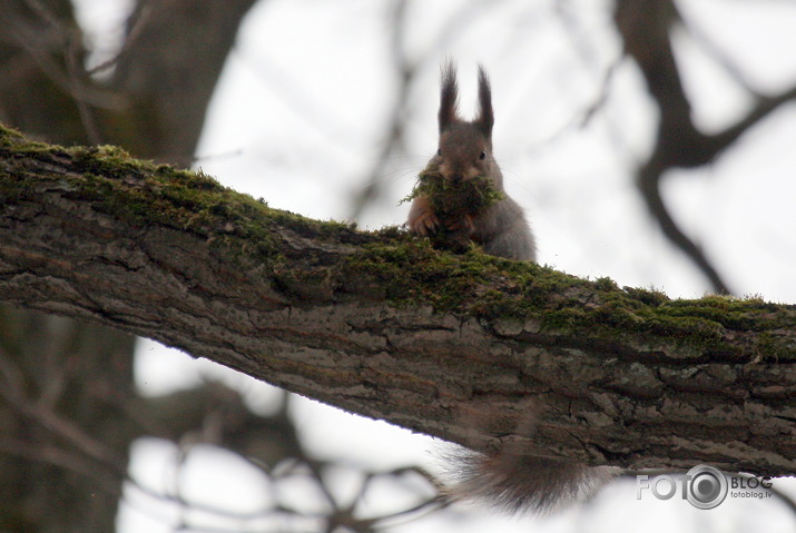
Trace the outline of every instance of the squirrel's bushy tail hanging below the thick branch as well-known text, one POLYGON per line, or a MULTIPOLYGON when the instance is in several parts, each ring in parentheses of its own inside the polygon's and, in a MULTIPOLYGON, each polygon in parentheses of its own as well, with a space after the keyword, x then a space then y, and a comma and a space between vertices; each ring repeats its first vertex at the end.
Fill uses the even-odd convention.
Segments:
POLYGON ((612 466, 500 452, 484 455, 462 448, 446 454, 453 500, 483 503, 510 514, 544 514, 583 502, 621 473, 612 466))

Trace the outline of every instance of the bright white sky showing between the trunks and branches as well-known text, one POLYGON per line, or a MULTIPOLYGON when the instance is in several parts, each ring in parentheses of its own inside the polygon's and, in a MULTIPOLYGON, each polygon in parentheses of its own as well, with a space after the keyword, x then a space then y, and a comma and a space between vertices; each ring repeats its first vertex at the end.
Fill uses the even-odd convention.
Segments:
MULTIPOLYGON (((121 20, 118 6, 125 2, 80 3, 86 23, 101 28, 101 43, 114 21, 121 20)), ((631 188, 630 170, 650 149, 656 124, 632 65, 619 66, 609 98, 588 126, 572 126, 598 98, 602 76, 620 53, 610 30, 611 2, 483 2, 440 43, 445 22, 463 4, 415 1, 410 8, 407 56, 424 59, 425 66, 409 105, 407 154, 380 177, 385 197, 366 211, 361 226, 402 224, 406 216, 407 207, 397 207, 397 199, 435 149, 438 65, 445 56, 459 62, 466 111, 474 101, 475 63, 482 61, 493 83, 495 157, 509 194, 528 210, 541 261, 576 275, 607 275, 620 285, 653 286, 672 297, 701 296, 708 288, 705 280, 659 235, 631 188)), ((256 6, 213 100, 198 150, 203 170, 274 207, 345 219, 351 194, 364 185, 384 140, 384 122, 396 98, 396 80, 385 59, 391 6, 374 0, 268 0, 256 6)), ((796 81, 796 6, 753 0, 678 6, 700 30, 700 39, 716 43, 755 90, 774 93, 796 81)), ((748 109, 748 96, 699 39, 682 32, 676 39, 698 125, 715 131, 731 124, 748 109)), ((711 167, 680 171, 664 182, 676 219, 740 294, 796 302, 795 139, 792 105, 711 167)), ((261 398, 254 402, 268 396, 265 386, 210 366, 168 356, 145 342, 137 369, 147 394, 223 374, 261 398)), ((308 401, 298 399, 294 407, 303 434, 327 456, 383 467, 389 460, 433 467, 428 438, 308 401)), ((169 487, 175 453, 160 442, 140 442, 131 470, 151 487, 169 487)), ((262 480, 250 474, 234 457, 205 450, 179 476, 193 480, 188 485, 199 500, 250 510, 265 497, 262 480)), ((605 504, 547 520, 546 531, 615 532, 638 524, 639 516, 645 516, 646 532, 793 531, 796 521, 770 502, 734 501, 702 512, 681 502, 638 502, 635 496, 632 484, 606 491, 600 495, 605 504)), ((120 517, 125 533, 171 531, 169 524, 178 520, 171 506, 158 506, 135 491, 128 500, 120 517)), ((528 531, 539 522, 478 512, 451 520, 434 516, 392 531, 528 531)), ((255 525, 263 524, 236 527, 256 531, 255 525)))

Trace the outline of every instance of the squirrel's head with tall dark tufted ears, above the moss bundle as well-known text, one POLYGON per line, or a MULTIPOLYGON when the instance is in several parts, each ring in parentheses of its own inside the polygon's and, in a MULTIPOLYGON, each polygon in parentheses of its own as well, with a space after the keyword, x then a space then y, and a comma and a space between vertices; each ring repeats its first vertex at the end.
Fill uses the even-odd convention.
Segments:
POLYGON ((446 62, 442 67, 440 147, 432 161, 450 181, 464 181, 481 176, 502 186, 498 164, 492 157, 492 91, 482 66, 479 66, 479 112, 474 120, 466 121, 459 117, 458 100, 456 69, 446 62))

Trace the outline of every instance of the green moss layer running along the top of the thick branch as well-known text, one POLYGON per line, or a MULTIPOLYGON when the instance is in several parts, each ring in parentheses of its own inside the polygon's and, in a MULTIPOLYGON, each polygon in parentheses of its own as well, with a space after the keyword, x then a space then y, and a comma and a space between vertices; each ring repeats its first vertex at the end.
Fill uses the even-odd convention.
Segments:
POLYGON ((2 204, 36 201, 42 179, 60 184, 65 198, 89 201, 132 227, 164 225, 200 235, 230 259, 262 264, 272 284, 297 299, 365 296, 513 320, 540 337, 566 335, 625 349, 646 339, 649 354, 655 339, 668 339, 684 358, 796 361, 793 336, 783 335, 796 328, 794 306, 715 295, 670 299, 658 290, 622 288, 608 278, 583 279, 473 249, 455 255, 400 228, 358 231, 274 209, 202 171, 141 161, 115 147, 63 148, 0 128, 2 204), (295 239, 315 243, 314 250, 302 253, 295 239), (739 343, 739 336, 748 338, 739 343))

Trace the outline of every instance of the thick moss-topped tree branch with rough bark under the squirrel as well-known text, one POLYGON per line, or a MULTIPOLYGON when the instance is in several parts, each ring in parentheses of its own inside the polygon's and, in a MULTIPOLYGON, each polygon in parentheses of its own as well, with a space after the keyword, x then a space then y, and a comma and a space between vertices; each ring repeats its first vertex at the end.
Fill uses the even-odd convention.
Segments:
POLYGON ((479 450, 796 474, 796 307, 588 282, 269 209, 112 148, 0 141, 0 299, 479 450))

